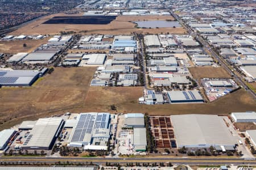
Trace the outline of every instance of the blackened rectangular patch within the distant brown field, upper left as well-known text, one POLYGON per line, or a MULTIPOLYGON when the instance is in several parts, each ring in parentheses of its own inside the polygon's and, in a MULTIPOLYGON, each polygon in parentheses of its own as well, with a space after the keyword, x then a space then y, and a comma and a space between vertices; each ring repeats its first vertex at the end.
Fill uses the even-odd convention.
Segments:
POLYGON ((109 24, 116 16, 55 16, 43 24, 109 24))

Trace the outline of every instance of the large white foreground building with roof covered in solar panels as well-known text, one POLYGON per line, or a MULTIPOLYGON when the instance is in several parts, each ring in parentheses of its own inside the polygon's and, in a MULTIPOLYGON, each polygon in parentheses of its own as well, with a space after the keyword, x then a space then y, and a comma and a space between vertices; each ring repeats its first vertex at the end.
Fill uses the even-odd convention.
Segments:
MULTIPOLYGON (((100 146, 99 150, 106 150, 106 143, 110 136, 109 113, 81 113, 69 137, 71 147, 100 146)), ((94 147, 96 148, 96 147, 94 147)))

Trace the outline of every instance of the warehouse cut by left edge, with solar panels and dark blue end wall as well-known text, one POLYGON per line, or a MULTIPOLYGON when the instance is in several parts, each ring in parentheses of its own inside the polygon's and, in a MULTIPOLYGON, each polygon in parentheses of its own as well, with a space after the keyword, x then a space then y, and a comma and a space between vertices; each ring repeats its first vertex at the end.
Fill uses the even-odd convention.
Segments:
POLYGON ((0 71, 0 86, 31 86, 39 77, 39 71, 0 71))

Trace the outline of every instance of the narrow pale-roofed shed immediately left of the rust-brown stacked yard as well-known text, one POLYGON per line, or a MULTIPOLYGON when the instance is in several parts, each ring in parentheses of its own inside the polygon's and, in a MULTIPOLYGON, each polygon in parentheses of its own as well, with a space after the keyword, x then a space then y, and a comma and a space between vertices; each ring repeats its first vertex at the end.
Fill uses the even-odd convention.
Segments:
POLYGON ((136 152, 145 152, 147 146, 146 128, 133 129, 133 147, 136 152))

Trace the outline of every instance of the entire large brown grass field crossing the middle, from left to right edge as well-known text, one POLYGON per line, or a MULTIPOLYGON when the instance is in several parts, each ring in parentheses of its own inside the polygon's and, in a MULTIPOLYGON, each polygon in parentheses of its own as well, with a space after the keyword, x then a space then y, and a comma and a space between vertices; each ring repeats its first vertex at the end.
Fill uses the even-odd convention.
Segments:
POLYGON ((171 114, 222 114, 255 111, 256 102, 244 90, 204 104, 141 105, 143 87, 89 87, 96 67, 55 68, 35 86, 0 88, 0 129, 23 120, 36 120, 65 112, 171 114), (114 104, 117 111, 112 111, 114 104))

